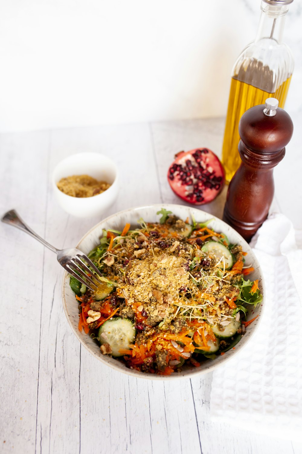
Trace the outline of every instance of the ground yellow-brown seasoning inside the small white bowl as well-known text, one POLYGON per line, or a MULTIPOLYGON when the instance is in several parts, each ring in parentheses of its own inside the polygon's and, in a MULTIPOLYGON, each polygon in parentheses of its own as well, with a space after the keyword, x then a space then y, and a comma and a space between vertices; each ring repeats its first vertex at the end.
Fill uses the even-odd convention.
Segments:
POLYGON ((71 177, 61 178, 57 183, 61 192, 72 197, 96 196, 106 191, 110 186, 110 183, 97 181, 89 175, 72 175, 71 177))

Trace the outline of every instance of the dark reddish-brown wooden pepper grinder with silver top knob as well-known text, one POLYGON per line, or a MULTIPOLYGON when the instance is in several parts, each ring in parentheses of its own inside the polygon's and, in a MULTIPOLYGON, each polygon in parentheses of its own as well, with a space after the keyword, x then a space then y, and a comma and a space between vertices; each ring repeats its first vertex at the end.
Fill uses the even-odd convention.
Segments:
POLYGON ((254 106, 239 123, 242 163, 230 181, 223 219, 246 241, 268 216, 273 201, 273 168, 283 159, 292 137, 292 119, 278 109, 278 99, 254 106))

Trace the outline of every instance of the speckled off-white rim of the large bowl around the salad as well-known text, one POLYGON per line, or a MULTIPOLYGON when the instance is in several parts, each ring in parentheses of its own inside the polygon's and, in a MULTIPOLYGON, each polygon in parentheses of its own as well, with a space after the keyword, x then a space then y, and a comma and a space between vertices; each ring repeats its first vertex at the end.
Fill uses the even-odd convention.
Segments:
POLYGON ((189 378, 206 372, 214 370, 216 367, 219 367, 222 364, 225 364, 225 361, 230 360, 234 355, 244 348, 244 346, 250 341, 251 337, 254 335, 254 332, 259 326, 261 321, 261 316, 264 309, 264 300, 265 300, 265 288, 264 288, 264 279, 263 274, 257 261, 254 252, 249 247, 249 244, 237 233, 232 227, 230 227, 225 222, 221 221, 217 217, 211 216, 211 214, 204 211, 198 210, 197 208, 190 208, 182 205, 173 205, 173 204, 157 204, 150 205, 146 207, 137 207, 129 208, 127 210, 116 213, 112 216, 107 217, 103 221, 96 224, 92 227, 89 232, 84 235, 81 241, 77 244, 77 248, 86 254, 91 251, 97 244, 99 244, 99 239, 102 236, 102 229, 112 228, 115 230, 122 230, 126 222, 130 222, 132 227, 138 226, 138 219, 143 217, 147 222, 158 222, 159 216, 156 214, 161 208, 170 210, 177 217, 185 220, 189 217, 191 222, 191 216, 193 215, 197 222, 206 222, 207 220, 213 218, 213 221, 210 224, 210 227, 216 232, 223 232, 229 238, 231 243, 236 243, 242 246, 243 250, 247 252, 245 257, 246 263, 254 267, 254 271, 249 275, 249 279, 253 281, 254 279, 259 279, 259 288, 263 294, 263 301, 261 304, 256 306, 251 305, 248 314, 248 320, 254 318, 258 315, 253 323, 251 323, 241 341, 236 345, 235 350, 231 349, 226 351, 224 355, 218 355, 214 360, 202 361, 200 367, 195 367, 191 365, 185 365, 182 367, 182 372, 174 372, 171 375, 156 375, 151 373, 144 373, 137 370, 132 370, 126 367, 125 363, 121 360, 111 358, 108 355, 103 355, 100 350, 100 345, 97 341, 91 339, 88 334, 85 334, 84 331, 80 332, 78 330, 79 316, 78 316, 78 304, 75 298, 75 295, 72 289, 69 286, 69 277, 67 273, 63 276, 62 283, 62 299, 63 307, 68 320, 69 325, 72 328, 72 331, 76 335, 77 339, 81 344, 88 350, 92 355, 94 355, 98 360, 101 361, 102 365, 108 365, 113 369, 123 372, 128 375, 133 375, 135 377, 152 379, 152 380, 178 380, 180 378, 189 378))

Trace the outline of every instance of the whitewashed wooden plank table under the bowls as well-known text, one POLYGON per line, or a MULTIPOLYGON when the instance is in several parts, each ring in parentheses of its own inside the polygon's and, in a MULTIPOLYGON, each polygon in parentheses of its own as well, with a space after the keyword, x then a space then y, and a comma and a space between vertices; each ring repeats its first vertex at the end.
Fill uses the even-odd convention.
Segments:
MULTIPOLYGON (((276 201, 302 232, 302 115, 275 171, 276 201), (299 209, 297 209, 299 207, 299 209)), ((95 151, 115 158, 120 196, 108 215, 149 203, 181 203, 166 173, 174 153, 206 146, 220 154, 223 119, 61 129, 0 136, 0 213, 16 208, 56 247, 72 247, 100 218, 79 220, 53 197, 62 158, 95 151)), ((225 191, 204 207, 221 217, 225 191)), ((0 225, 1 453, 302 453, 302 444, 210 420, 211 374, 170 383, 106 368, 73 335, 54 254, 0 225)))

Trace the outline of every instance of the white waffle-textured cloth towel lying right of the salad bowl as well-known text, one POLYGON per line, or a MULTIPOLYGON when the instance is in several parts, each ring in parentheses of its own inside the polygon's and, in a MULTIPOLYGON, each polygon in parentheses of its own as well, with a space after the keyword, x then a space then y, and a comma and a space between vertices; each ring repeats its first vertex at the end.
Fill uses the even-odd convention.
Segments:
POLYGON ((264 273, 264 314, 248 345, 215 370, 211 419, 301 441, 302 250, 294 238, 282 214, 272 214, 253 238, 264 273))

